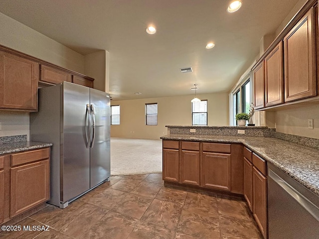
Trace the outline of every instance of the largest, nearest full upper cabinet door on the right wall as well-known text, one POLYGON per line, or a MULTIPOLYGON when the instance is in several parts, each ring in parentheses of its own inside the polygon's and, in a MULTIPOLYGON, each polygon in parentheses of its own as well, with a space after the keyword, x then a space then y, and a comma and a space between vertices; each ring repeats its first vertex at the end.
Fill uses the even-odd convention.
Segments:
POLYGON ((314 8, 284 38, 285 102, 317 95, 314 8))

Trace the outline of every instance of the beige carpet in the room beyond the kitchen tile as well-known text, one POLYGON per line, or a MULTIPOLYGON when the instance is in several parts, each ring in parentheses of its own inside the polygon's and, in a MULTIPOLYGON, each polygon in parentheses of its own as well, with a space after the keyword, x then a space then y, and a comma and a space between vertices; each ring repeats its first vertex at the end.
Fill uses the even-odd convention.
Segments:
POLYGON ((161 139, 111 137, 111 175, 162 172, 161 139))

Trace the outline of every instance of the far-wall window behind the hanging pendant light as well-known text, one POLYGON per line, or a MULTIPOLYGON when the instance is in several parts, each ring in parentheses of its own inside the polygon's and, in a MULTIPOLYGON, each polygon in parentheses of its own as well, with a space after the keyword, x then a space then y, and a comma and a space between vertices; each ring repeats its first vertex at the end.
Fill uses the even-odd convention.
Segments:
POLYGON ((207 100, 191 103, 192 125, 207 125, 207 100))

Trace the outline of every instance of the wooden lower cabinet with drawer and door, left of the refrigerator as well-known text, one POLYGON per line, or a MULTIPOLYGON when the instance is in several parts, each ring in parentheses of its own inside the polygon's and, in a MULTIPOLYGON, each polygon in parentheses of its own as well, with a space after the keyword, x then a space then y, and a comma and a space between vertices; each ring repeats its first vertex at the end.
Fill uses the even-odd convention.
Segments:
POLYGON ((0 156, 0 224, 49 199, 50 148, 0 156))

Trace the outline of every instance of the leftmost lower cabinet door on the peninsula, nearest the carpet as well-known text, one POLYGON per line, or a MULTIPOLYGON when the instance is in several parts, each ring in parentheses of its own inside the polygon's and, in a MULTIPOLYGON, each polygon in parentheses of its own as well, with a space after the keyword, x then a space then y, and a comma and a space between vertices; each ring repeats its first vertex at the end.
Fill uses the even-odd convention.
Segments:
POLYGON ((179 181, 179 157, 177 149, 163 149, 163 180, 179 181))

